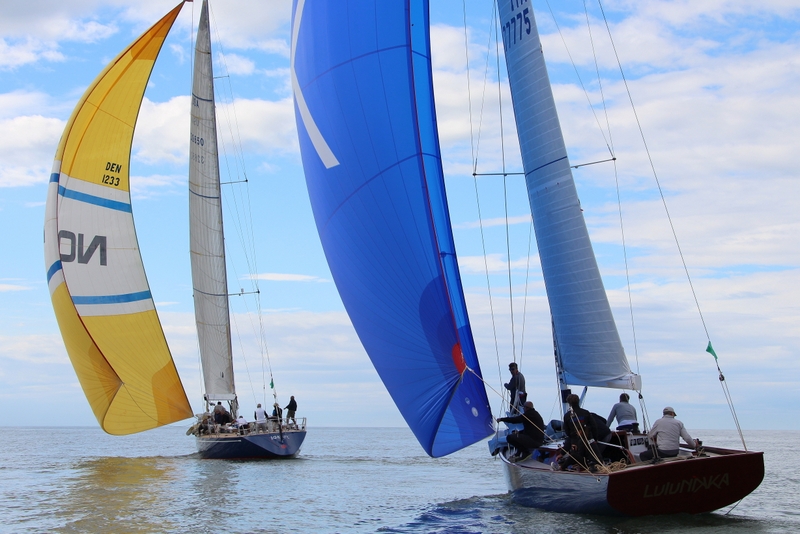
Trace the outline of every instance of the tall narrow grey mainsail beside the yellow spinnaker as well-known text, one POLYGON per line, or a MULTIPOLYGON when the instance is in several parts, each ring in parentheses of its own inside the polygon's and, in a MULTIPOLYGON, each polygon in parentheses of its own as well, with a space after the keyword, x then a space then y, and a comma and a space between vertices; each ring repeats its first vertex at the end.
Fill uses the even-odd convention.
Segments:
POLYGON ((195 44, 189 143, 189 236, 195 321, 205 400, 228 401, 237 414, 228 278, 214 106, 208 3, 203 0, 195 44))

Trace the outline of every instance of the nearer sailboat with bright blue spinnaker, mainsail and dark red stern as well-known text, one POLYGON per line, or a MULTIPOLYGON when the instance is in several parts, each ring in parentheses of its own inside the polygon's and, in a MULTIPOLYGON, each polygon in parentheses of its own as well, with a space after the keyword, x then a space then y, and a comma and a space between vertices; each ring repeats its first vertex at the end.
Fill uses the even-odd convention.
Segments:
MULTIPOLYGON (((559 389, 641 391, 611 314, 527 0, 497 2, 548 296, 559 389)), ((752 492, 763 455, 706 447, 642 462, 622 432, 617 471, 554 471, 558 443, 515 461, 483 383, 461 287, 439 149, 428 0, 295 0, 291 76, 317 229, 342 302, 423 449, 495 433, 515 501, 552 511, 701 513, 752 492), (628 454, 629 453, 629 454, 628 454), (544 459, 549 459, 545 461, 544 459)))

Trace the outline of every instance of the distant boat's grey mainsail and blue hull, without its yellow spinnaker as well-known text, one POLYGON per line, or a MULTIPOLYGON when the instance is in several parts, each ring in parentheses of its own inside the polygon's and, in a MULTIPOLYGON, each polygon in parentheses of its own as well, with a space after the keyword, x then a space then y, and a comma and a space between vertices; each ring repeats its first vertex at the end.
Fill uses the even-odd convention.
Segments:
MULTIPOLYGON (((222 198, 217 153, 208 2, 203 0, 197 30, 192 82, 189 158, 189 233, 192 284, 206 407, 226 402, 233 417, 239 401, 233 376, 228 276, 222 225, 222 198)), ((202 423, 201 423, 202 424, 202 423)), ((219 425, 213 425, 219 429, 219 425)), ((306 421, 284 425, 280 418, 265 425, 252 423, 235 433, 200 433, 197 449, 204 458, 293 458, 306 437, 306 421), (259 426, 261 428, 259 428, 259 426)))

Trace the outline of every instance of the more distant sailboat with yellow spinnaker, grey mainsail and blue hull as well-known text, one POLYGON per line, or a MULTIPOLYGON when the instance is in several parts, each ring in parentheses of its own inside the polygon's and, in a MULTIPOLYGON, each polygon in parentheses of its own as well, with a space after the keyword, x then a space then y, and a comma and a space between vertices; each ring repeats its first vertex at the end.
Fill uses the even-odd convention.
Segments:
MULTIPOLYGON (((100 427, 114 435, 194 416, 145 275, 134 228, 129 171, 144 90, 183 4, 131 43, 90 84, 67 121, 48 186, 44 251, 53 309, 92 411, 100 427)), ((202 139, 199 148, 197 142, 192 144, 198 161, 193 161, 190 170, 193 282, 198 323, 204 325, 198 327, 206 376, 204 400, 225 400, 235 415, 238 402, 224 285, 205 3, 203 14, 205 30, 199 32, 203 43, 197 52, 202 56, 198 60, 201 72, 195 73, 192 99, 192 139, 202 139), (202 200, 196 201, 200 196, 202 200), (214 229, 203 233, 198 227, 214 229), (214 244, 219 245, 216 257, 204 257, 214 244), (221 276, 222 285, 209 285, 204 272, 221 276), (205 297, 197 295, 203 291, 208 293, 205 297), (208 309, 214 306, 224 307, 224 317, 210 316, 208 309), (213 328, 218 335, 210 333, 213 328)), ((298 420, 292 428, 273 422, 268 430, 222 434, 214 427, 213 434, 197 437, 198 450, 205 458, 293 457, 305 437, 305 421, 298 420)))

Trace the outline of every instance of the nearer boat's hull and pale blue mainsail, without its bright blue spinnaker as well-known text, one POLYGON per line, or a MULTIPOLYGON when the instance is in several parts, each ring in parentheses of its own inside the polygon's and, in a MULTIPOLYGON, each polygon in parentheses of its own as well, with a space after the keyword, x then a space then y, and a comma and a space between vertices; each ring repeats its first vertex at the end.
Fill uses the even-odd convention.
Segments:
MULTIPOLYGON (((499 1, 497 7, 562 401, 570 386, 641 392, 641 377, 631 372, 589 241, 532 7, 527 1, 499 1)), ((645 439, 629 431, 617 438, 632 462, 619 471, 603 466, 595 473, 552 471, 558 440, 520 463, 509 461, 505 449, 500 457, 509 489, 521 503, 555 511, 700 513, 744 498, 764 476, 762 453, 713 447, 698 453, 692 446, 676 458, 641 462, 645 439)))

